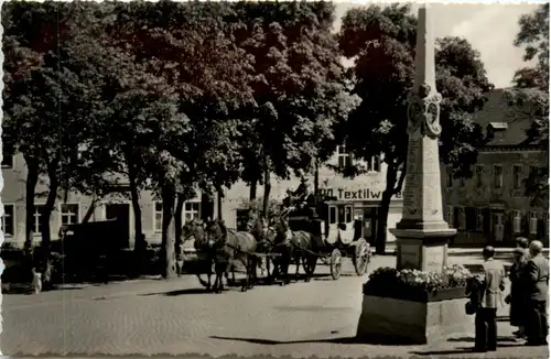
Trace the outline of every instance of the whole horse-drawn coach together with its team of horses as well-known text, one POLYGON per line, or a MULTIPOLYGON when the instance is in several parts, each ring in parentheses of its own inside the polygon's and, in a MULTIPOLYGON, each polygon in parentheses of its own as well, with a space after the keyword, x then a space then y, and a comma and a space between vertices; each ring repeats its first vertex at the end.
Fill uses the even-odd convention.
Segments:
POLYGON ((206 225, 192 221, 184 226, 184 237, 195 238, 199 259, 203 258, 206 264, 208 282, 197 273, 202 284, 210 289, 214 268, 214 287, 223 289, 222 275, 228 279, 228 269, 235 268, 236 262, 246 268, 244 291, 256 282, 260 262, 267 265, 268 280, 279 278, 282 283, 289 283, 288 270, 292 258, 296 274, 302 264, 306 281, 312 278, 318 260, 329 265, 334 280, 341 278, 346 257, 352 258, 358 275, 367 272, 370 248, 361 236, 361 220, 354 219, 350 205, 338 204, 331 197, 317 197, 305 206, 283 209, 271 228, 261 217, 249 225, 249 231, 228 229, 222 220, 212 220, 206 225), (270 271, 270 263, 274 272, 270 271))

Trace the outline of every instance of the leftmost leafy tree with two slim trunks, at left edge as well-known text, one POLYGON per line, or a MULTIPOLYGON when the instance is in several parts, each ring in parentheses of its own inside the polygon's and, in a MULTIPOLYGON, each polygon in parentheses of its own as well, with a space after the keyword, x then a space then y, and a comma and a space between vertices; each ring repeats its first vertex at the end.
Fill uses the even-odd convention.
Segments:
POLYGON ((98 176, 86 170, 80 143, 89 135, 94 87, 80 68, 94 52, 89 17, 82 3, 13 2, 2 8, 4 29, 4 139, 28 165, 26 236, 31 244, 35 186, 47 175, 48 194, 41 216, 42 248, 50 253, 50 218, 61 189, 87 184, 98 176), (82 176, 82 171, 88 175, 82 176), (75 181, 76 177, 87 178, 75 181))

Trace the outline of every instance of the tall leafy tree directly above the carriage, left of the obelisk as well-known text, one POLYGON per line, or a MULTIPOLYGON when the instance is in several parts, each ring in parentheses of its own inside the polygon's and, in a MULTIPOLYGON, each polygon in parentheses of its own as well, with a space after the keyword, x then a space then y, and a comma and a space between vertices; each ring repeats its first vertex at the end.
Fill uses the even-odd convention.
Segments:
POLYGON ((322 141, 347 115, 343 110, 350 106, 343 104, 354 104, 331 33, 334 10, 328 2, 236 4, 238 18, 248 24, 236 31, 236 39, 255 57, 257 76, 250 86, 258 104, 242 141, 242 177, 251 185, 251 199, 263 181, 264 215, 270 175, 288 178, 290 171, 311 170, 322 141))

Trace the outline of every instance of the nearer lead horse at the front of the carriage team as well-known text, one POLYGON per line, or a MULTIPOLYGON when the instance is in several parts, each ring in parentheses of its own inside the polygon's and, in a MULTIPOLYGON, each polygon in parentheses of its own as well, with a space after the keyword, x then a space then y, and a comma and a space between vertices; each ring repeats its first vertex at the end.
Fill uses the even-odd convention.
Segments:
POLYGON ((257 260, 252 254, 257 241, 251 233, 227 229, 222 220, 212 220, 206 226, 206 235, 214 261, 216 292, 224 290, 223 274, 228 275, 229 269, 239 261, 246 269, 246 279, 241 286, 245 292, 252 289, 256 281, 257 260))

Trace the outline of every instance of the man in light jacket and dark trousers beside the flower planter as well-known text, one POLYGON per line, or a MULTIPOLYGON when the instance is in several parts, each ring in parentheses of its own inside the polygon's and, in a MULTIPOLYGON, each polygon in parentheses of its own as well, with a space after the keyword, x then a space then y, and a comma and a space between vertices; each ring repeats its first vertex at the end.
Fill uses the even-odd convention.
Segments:
POLYGON ((483 250, 485 283, 482 302, 475 316, 475 351, 495 351, 497 348, 497 306, 505 290, 505 268, 494 260, 494 247, 483 250))

